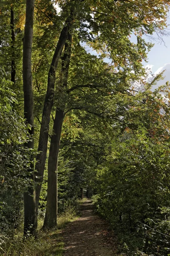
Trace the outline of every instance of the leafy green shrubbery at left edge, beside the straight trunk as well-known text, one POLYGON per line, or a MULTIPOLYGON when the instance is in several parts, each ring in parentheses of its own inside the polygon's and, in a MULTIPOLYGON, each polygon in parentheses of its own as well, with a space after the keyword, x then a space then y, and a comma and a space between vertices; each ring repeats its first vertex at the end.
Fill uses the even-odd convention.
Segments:
POLYGON ((2 232, 12 236, 10 230, 20 224, 32 153, 23 147, 28 135, 24 119, 14 110, 17 100, 9 88, 11 81, 2 79, 0 83, 0 225, 2 232))

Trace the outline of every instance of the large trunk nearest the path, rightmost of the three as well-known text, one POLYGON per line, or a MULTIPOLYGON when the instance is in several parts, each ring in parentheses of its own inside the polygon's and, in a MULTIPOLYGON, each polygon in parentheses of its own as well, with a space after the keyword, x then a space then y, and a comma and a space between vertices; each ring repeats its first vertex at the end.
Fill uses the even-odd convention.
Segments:
MULTIPOLYGON (((62 58, 62 70, 60 84, 63 90, 67 87, 68 70, 71 58, 72 35, 68 33, 68 41, 65 43, 65 52, 62 58)), ((65 97, 64 97, 65 98, 65 97)), ((47 188, 47 206, 45 212, 44 228, 51 228, 57 225, 57 205, 58 205, 58 189, 57 189, 57 165, 59 155, 59 144, 62 131, 62 123, 64 119, 65 102, 62 103, 61 109, 57 108, 53 135, 51 136, 50 151, 48 157, 48 188, 47 188)))

